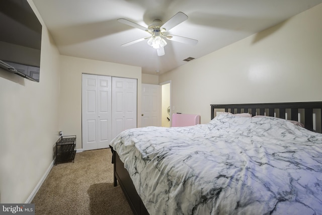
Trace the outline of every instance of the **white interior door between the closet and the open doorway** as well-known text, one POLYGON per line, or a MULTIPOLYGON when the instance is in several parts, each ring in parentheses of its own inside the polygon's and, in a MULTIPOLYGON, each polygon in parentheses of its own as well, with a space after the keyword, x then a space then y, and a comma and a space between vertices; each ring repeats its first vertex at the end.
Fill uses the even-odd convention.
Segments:
POLYGON ((141 126, 161 126, 161 86, 142 84, 141 126))

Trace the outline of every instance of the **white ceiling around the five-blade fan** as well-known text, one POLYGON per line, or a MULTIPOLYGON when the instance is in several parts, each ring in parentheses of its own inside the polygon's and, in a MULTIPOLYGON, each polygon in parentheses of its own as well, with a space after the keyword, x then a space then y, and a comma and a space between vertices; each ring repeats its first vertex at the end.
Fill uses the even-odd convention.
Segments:
POLYGON ((322 0, 33 0, 60 54, 142 67, 144 74, 162 74, 224 46, 274 26, 322 0), (121 44, 149 36, 119 23, 124 18, 147 27, 176 13, 189 18, 171 34, 198 40, 197 45, 167 41, 157 56, 147 41, 121 44), (156 73, 159 70, 159 73, 156 73))

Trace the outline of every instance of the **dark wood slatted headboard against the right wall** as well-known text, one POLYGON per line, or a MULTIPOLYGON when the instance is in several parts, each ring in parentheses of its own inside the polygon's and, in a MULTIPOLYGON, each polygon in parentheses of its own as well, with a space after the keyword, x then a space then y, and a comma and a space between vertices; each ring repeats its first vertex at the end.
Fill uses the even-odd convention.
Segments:
POLYGON ((211 119, 215 117, 217 109, 224 109, 230 113, 250 113, 253 116, 266 115, 299 121, 306 129, 322 133, 322 102, 211 105, 211 119))

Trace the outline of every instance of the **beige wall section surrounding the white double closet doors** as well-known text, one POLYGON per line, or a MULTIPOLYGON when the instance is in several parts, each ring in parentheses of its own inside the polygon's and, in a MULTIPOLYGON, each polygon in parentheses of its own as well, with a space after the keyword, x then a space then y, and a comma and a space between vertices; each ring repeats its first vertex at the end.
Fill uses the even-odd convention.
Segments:
POLYGON ((137 125, 141 125, 141 67, 60 56, 59 130, 76 135, 76 149, 82 149, 82 74, 137 79, 137 125))

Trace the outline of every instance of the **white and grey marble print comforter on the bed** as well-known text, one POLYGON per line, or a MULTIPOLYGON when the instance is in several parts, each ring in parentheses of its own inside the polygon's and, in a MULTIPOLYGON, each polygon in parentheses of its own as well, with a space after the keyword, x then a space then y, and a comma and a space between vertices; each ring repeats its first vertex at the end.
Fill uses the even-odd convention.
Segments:
POLYGON ((322 214, 322 134, 221 114, 125 130, 110 144, 154 214, 322 214))

